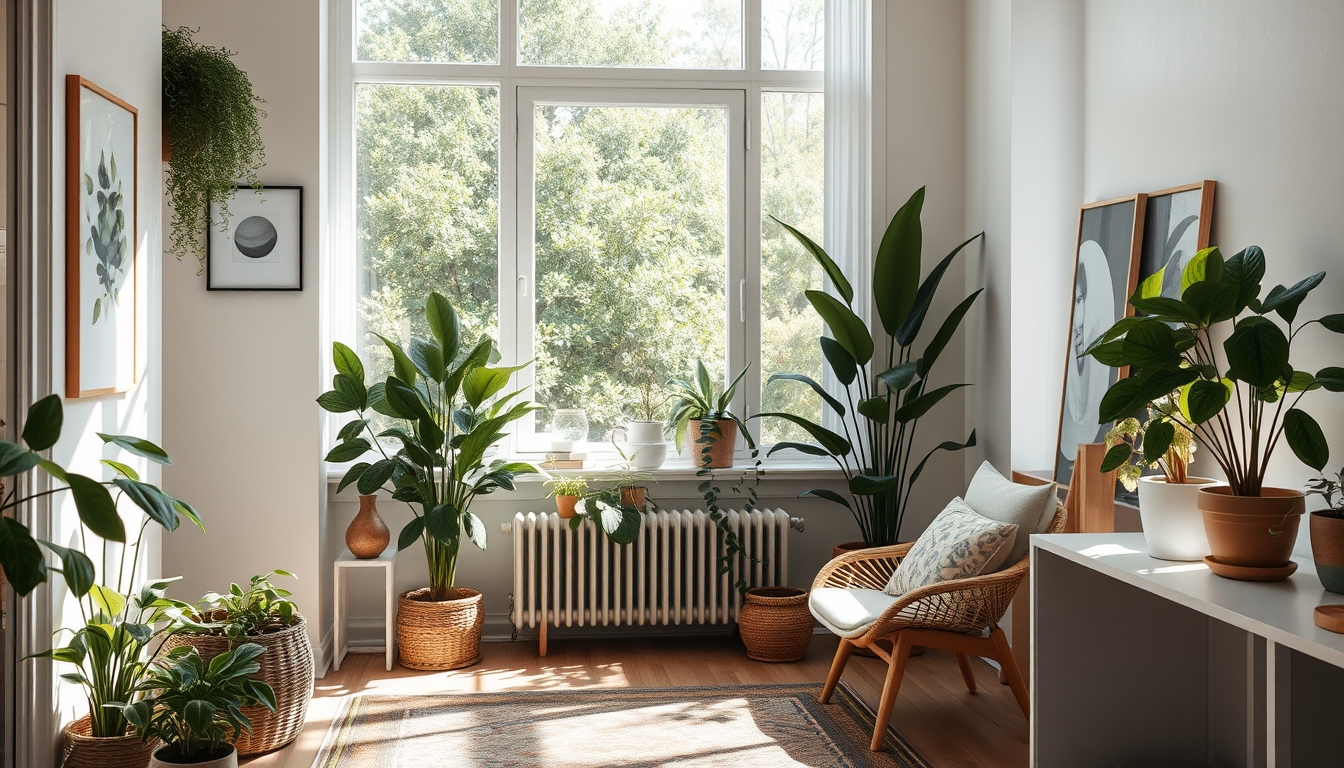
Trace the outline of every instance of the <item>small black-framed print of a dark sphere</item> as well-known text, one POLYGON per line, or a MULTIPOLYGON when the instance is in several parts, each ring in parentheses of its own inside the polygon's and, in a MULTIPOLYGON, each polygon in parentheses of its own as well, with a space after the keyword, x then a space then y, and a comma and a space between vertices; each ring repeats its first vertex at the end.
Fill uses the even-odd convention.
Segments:
POLYGON ((211 200, 206 289, 304 289, 302 187, 234 187, 227 219, 211 200))

